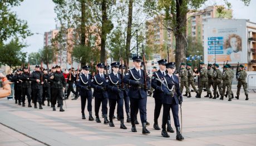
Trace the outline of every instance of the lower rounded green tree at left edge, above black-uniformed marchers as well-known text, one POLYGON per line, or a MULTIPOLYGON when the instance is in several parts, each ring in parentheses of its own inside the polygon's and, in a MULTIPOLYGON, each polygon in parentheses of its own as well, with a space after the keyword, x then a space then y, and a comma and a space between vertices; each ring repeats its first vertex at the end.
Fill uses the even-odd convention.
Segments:
POLYGON ((2 45, 0 54, 0 62, 3 65, 8 65, 11 69, 15 66, 21 66, 24 63, 27 53, 22 53, 21 49, 24 45, 20 44, 18 39, 12 39, 9 44, 2 45))

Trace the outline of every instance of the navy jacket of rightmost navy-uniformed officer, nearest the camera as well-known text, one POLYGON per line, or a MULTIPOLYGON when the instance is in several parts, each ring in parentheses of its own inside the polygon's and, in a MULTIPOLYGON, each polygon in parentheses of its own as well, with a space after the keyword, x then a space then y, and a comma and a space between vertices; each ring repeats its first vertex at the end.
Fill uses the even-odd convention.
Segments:
MULTIPOLYGON (((176 75, 173 75, 173 79, 171 79, 171 77, 167 74, 166 76, 164 76, 164 83, 165 85, 168 85, 168 88, 171 89, 173 86, 175 86, 175 91, 174 92, 174 97, 171 97, 170 95, 166 95, 164 94, 163 98, 162 98, 162 102, 165 103, 165 104, 173 104, 173 103, 176 103, 176 104, 179 104, 179 100, 178 100, 178 97, 181 98, 181 101, 183 100, 182 99, 182 95, 181 95, 181 92, 180 92, 180 85, 179 85, 179 78, 178 76, 176 75), (166 84, 167 82, 167 84, 166 84)), ((163 90, 169 90, 166 86, 162 85, 163 87, 163 90)))

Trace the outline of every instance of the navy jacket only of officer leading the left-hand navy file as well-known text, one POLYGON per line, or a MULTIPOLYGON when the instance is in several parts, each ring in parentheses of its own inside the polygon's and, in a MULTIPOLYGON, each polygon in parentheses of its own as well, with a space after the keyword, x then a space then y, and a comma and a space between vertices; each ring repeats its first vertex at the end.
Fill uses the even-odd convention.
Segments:
MULTIPOLYGON (((125 76, 124 76, 124 83, 129 84, 131 87, 129 88, 128 96, 130 98, 146 98, 147 92, 144 88, 144 72, 143 70, 140 70, 141 75, 139 72, 136 71, 136 69, 129 70, 125 76), (134 75, 134 76, 132 76, 134 75), (136 86, 135 82, 136 80, 139 80, 142 84, 141 87, 136 86)), ((150 87, 150 82, 147 80, 147 86, 150 87)))

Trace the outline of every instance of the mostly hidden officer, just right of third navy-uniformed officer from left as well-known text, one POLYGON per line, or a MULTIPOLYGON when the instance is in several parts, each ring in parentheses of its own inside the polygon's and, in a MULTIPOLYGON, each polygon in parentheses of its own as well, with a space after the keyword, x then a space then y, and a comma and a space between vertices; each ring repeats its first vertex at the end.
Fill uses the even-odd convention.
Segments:
MULTIPOLYGON (((125 67, 126 67, 126 65, 124 65, 124 64, 122 64, 122 65, 120 64, 119 65, 119 71, 120 71, 122 77, 125 76, 125 72, 124 72, 125 71, 125 67), (122 72, 122 70, 123 70, 123 72, 122 72)), ((130 118, 130 98, 128 96, 129 86, 127 84, 124 84, 124 88, 122 90, 123 90, 123 93, 124 93, 126 122, 130 123, 131 122, 131 118, 130 118)), ((117 113, 118 113, 118 111, 117 111, 117 113)))

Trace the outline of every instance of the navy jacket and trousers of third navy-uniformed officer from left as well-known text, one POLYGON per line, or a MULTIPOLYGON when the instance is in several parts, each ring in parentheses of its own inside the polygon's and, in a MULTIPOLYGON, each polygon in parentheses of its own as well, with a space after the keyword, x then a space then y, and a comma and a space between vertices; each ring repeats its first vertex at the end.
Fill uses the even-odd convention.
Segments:
POLYGON ((121 74, 117 73, 116 76, 114 73, 109 74, 109 85, 107 86, 109 91, 109 118, 112 121, 114 116, 115 107, 117 103, 117 114, 120 119, 124 119, 124 92, 121 88, 122 80, 121 74))

